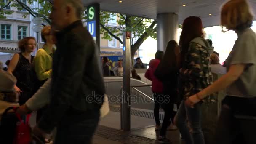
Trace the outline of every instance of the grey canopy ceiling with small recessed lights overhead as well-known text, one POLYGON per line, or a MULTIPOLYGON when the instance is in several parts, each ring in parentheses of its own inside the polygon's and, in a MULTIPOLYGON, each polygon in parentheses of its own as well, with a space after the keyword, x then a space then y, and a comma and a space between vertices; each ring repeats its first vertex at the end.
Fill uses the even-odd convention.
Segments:
MULTIPOLYGON (((200 16, 204 27, 219 25, 221 5, 227 0, 83 0, 99 3, 101 10, 156 19, 157 13, 177 13, 179 24, 188 16, 200 16), (122 1, 122 3, 120 3, 122 1)), ((256 9, 256 0, 249 0, 256 9)))

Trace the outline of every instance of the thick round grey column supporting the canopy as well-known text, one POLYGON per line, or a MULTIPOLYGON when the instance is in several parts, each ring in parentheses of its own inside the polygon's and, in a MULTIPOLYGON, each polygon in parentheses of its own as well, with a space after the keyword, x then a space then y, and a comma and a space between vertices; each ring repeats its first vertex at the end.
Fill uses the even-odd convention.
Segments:
POLYGON ((176 40, 178 15, 175 13, 157 14, 157 50, 165 51, 170 40, 176 40))

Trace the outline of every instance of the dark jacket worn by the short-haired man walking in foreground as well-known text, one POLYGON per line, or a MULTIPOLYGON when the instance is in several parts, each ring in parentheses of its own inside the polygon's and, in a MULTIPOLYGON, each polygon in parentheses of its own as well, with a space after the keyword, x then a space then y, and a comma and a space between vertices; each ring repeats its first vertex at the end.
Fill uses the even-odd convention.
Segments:
POLYGON ((53 130, 67 115, 90 117, 83 114, 98 113, 105 93, 99 51, 82 22, 70 24, 56 38, 51 101, 38 124, 45 132, 53 130))

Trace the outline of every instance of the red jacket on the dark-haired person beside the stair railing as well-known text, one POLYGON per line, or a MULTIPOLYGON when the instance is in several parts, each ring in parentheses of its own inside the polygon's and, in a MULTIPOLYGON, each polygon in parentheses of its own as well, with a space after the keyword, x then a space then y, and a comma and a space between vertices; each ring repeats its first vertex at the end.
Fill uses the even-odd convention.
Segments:
POLYGON ((160 63, 159 59, 152 59, 149 62, 149 69, 147 69, 147 72, 145 73, 145 77, 152 81, 152 92, 153 93, 162 93, 163 92, 163 83, 158 80, 154 73, 157 69, 158 64, 160 63))

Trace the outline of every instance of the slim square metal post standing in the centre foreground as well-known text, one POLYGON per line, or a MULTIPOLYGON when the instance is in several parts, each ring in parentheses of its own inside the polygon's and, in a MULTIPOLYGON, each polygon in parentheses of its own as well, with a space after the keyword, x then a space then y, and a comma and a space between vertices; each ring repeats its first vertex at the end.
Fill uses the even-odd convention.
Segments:
POLYGON ((122 93, 122 121, 123 131, 131 131, 130 104, 130 38, 131 32, 123 32, 123 93, 122 93))

